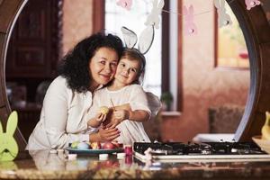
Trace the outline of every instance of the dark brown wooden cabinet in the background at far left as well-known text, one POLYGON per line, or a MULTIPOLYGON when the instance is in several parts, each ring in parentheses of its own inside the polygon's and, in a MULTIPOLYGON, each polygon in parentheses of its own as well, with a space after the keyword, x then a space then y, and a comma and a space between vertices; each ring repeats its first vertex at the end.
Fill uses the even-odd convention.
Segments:
POLYGON ((51 78, 58 62, 61 14, 58 0, 29 0, 9 43, 6 77, 51 78))

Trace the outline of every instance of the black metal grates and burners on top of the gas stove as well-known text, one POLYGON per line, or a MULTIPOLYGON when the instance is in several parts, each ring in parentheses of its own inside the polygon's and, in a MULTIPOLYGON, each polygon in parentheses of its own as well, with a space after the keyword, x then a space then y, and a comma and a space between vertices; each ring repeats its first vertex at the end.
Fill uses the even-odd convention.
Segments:
POLYGON ((249 155, 266 154, 254 142, 135 142, 134 151, 144 155, 152 148, 153 155, 249 155))

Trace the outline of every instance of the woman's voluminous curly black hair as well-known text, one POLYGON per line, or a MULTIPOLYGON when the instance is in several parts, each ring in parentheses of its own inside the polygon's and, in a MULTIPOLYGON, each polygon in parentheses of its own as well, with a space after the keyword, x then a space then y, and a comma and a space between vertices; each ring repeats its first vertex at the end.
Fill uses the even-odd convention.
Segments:
POLYGON ((85 93, 91 85, 89 62, 94 57, 94 53, 100 48, 114 49, 118 57, 121 57, 123 45, 118 36, 102 32, 78 42, 74 49, 69 51, 62 58, 58 66, 58 75, 67 79, 67 85, 78 93, 85 93))

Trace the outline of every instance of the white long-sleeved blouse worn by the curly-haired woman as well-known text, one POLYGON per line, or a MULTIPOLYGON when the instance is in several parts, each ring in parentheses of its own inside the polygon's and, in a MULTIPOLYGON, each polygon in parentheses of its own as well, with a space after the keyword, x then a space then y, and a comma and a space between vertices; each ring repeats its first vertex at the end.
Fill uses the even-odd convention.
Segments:
POLYGON ((26 149, 65 148, 68 143, 89 140, 87 114, 92 93, 76 93, 67 80, 58 76, 49 85, 43 100, 40 121, 32 131, 26 149))

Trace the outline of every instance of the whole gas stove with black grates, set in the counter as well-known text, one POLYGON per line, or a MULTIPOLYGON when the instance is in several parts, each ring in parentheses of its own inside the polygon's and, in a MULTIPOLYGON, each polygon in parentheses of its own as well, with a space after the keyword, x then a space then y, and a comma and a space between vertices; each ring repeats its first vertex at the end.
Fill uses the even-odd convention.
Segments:
POLYGON ((151 148, 152 160, 163 162, 270 161, 270 155, 254 142, 135 142, 135 157, 147 161, 145 151, 148 148, 151 148))

